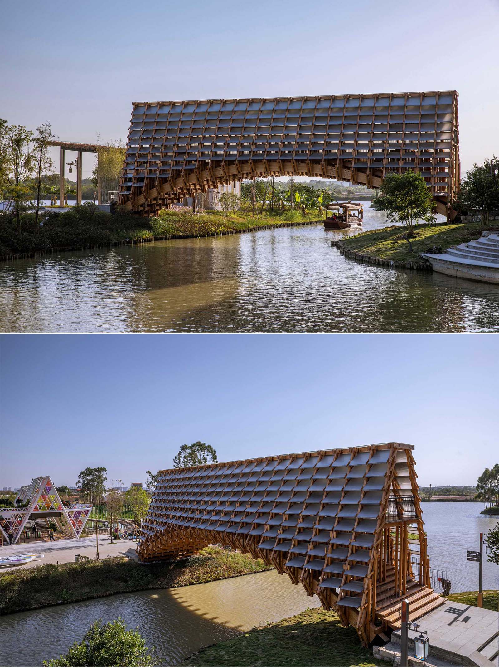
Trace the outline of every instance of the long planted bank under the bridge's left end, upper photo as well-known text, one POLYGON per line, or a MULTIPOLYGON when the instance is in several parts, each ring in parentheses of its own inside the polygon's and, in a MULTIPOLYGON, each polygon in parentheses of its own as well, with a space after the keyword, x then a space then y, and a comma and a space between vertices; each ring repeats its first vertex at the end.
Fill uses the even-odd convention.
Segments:
POLYGON ((168 237, 200 237, 233 234, 263 226, 280 227, 321 220, 317 212, 302 214, 297 210, 265 214, 251 218, 240 212, 222 215, 220 211, 204 214, 164 210, 158 218, 140 218, 132 214, 109 214, 95 206, 74 206, 66 213, 41 215, 43 226, 35 228, 34 215, 23 216, 22 237, 15 220, 0 218, 0 260, 31 257, 55 251, 74 251, 113 244, 150 241, 168 237))

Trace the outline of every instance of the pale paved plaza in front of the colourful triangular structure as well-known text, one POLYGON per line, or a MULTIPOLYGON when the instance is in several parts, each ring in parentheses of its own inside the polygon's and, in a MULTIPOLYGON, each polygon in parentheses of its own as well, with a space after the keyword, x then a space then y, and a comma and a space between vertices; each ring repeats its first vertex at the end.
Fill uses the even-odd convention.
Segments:
MULTIPOLYGON (((127 550, 135 552, 137 543, 135 540, 117 540, 111 544, 108 536, 99 536, 99 556, 104 559, 108 556, 120 556, 127 550)), ((75 560, 75 554, 85 554, 90 559, 96 558, 96 536, 90 538, 67 538, 67 540, 56 540, 55 542, 21 543, 17 545, 4 545, 0 547, 0 557, 18 556, 19 554, 43 554, 43 559, 31 561, 24 566, 15 568, 32 568, 39 564, 65 564, 75 560)), ((126 554, 132 556, 132 554, 126 554)), ((0 568, 0 573, 10 568, 0 568)))

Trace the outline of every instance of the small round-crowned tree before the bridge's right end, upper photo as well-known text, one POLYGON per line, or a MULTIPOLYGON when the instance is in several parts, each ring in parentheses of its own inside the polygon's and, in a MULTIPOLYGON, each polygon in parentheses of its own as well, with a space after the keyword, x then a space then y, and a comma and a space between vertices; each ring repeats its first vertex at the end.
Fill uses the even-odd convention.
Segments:
POLYGON ((390 222, 403 222, 413 236, 413 222, 435 222, 432 215, 435 202, 420 172, 388 174, 381 184, 381 195, 374 198, 374 206, 385 211, 390 222))

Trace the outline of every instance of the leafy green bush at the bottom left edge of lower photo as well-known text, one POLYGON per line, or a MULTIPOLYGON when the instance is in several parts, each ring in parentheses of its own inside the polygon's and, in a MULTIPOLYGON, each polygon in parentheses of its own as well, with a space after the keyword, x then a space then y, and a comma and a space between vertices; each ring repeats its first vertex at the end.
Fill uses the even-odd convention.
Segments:
POLYGON ((146 647, 138 627, 127 631, 122 619, 107 624, 98 619, 81 643, 75 642, 59 659, 43 661, 45 666, 151 666, 157 663, 154 648, 146 647))

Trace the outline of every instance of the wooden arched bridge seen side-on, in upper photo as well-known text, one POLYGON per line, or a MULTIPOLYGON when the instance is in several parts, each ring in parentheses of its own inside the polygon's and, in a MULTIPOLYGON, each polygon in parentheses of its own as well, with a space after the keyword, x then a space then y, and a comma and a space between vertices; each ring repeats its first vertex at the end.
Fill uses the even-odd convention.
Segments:
POLYGON ((311 176, 376 188, 421 172, 438 212, 460 184, 456 91, 134 102, 120 204, 144 216, 255 177, 311 176))

